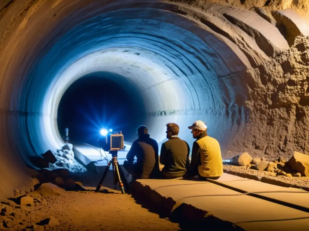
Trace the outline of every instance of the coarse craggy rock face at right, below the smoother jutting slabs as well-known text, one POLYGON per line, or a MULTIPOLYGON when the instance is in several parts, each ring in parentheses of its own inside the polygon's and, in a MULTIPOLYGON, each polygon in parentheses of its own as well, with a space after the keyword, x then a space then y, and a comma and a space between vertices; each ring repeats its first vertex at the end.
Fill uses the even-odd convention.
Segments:
POLYGON ((308 64, 309 37, 299 36, 289 50, 255 69, 260 84, 247 101, 251 128, 237 145, 269 159, 309 153, 308 64))

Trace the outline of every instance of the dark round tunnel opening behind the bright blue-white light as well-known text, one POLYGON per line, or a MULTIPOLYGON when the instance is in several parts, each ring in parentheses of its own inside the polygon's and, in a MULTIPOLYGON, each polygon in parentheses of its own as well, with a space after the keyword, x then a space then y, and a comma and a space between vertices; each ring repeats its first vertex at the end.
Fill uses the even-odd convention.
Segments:
POLYGON ((61 98, 57 124, 61 136, 69 128, 70 143, 98 146, 101 128, 122 131, 127 142, 146 122, 140 92, 127 78, 110 72, 96 72, 75 81, 61 98))

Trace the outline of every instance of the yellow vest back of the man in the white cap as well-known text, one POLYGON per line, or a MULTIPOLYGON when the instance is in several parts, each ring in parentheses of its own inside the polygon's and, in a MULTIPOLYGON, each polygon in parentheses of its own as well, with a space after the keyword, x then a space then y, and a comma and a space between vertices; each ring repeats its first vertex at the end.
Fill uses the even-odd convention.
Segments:
POLYGON ((198 172, 202 177, 218 177, 223 174, 222 156, 219 142, 210 136, 196 140, 200 146, 201 165, 198 172))

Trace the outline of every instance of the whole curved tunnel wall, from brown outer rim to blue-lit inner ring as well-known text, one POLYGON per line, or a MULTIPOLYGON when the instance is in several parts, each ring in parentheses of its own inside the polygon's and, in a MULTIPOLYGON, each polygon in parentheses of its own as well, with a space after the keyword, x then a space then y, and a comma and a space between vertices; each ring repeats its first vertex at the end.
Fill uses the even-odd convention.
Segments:
MULTIPOLYGON (((146 126, 159 144, 165 124, 176 122, 191 145, 188 125, 204 120, 224 157, 249 148, 252 140, 244 137, 256 133, 250 123, 260 125, 252 117, 252 91, 260 85, 256 68, 290 48, 287 36, 267 12, 206 6, 4 1, 0 185, 5 186, 0 194, 29 181, 22 171, 23 161, 30 164, 27 156, 55 151, 63 143, 56 123, 60 99, 70 84, 93 72, 113 72, 136 83, 147 107, 146 126)), ((287 23, 286 17, 277 18, 287 23)), ((289 40, 299 35, 287 33, 289 40)))

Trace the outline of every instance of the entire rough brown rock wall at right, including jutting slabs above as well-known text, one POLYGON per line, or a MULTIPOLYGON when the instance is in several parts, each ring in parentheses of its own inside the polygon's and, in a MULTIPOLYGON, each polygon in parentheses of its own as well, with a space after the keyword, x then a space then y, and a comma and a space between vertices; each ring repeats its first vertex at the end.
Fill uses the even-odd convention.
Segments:
MULTIPOLYGON (((176 13, 194 18, 222 39, 237 45, 251 65, 247 71, 237 74, 250 92, 243 110, 245 115, 240 119, 249 118, 240 122, 231 118, 239 123, 239 129, 223 156, 229 158, 246 151, 253 156, 274 159, 289 158, 294 150, 309 153, 309 37, 306 37, 309 26, 306 18, 300 17, 307 14, 309 2, 280 1, 281 5, 279 1, 263 5, 261 1, 248 0, 185 2, 191 5, 180 4, 176 13), (215 2, 222 5, 212 4, 215 2), (247 10, 227 9, 226 5, 247 10), (253 17, 255 20, 250 22, 253 17), (265 27, 268 30, 263 30, 265 27), (245 128, 241 128, 242 123, 245 128)), ((233 116, 232 111, 227 113, 233 116)))

